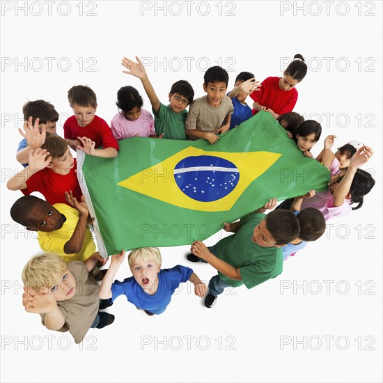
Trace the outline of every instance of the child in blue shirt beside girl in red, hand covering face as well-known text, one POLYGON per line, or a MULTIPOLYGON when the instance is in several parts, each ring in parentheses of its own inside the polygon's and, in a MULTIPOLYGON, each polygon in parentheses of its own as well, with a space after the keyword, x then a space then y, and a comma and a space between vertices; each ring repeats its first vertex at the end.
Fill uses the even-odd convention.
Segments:
POLYGON ((243 123, 252 116, 251 108, 245 102, 249 94, 253 91, 259 91, 258 86, 260 86, 259 81, 256 82, 256 79, 253 73, 250 72, 240 72, 235 79, 234 88, 228 93, 228 97, 231 98, 233 103, 234 112, 231 115, 230 120, 230 129, 236 127, 243 123), (254 87, 257 88, 254 88, 254 87))

